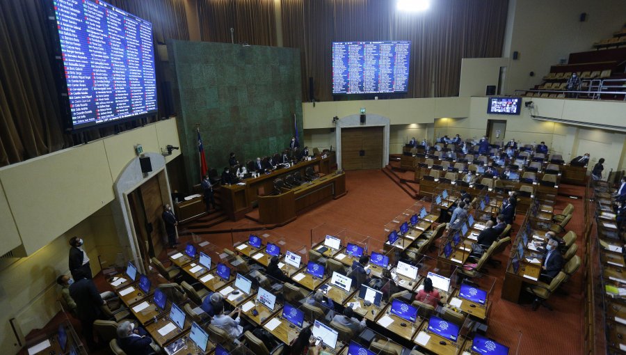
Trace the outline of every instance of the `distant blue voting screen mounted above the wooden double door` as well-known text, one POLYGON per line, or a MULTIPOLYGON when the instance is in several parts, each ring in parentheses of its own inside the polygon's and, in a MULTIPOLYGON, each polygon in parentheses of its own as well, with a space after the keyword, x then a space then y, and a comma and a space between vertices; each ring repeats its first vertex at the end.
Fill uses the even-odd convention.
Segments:
POLYGON ((407 93, 411 42, 332 43, 332 94, 407 93))

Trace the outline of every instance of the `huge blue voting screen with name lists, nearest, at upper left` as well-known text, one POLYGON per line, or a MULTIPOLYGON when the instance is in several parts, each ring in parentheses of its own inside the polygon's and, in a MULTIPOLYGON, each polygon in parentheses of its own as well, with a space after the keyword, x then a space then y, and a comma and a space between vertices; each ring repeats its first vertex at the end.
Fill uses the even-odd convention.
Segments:
POLYGON ((152 24, 104 1, 49 1, 67 129, 157 113, 152 24))

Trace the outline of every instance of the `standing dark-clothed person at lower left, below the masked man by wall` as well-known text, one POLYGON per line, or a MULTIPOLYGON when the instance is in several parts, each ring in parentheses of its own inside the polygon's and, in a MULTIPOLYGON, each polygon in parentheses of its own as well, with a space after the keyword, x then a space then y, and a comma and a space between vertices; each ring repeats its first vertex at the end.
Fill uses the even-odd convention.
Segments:
POLYGON ((104 300, 90 278, 80 278, 70 286, 70 296, 76 302, 76 313, 81 320, 83 338, 91 351, 96 347, 93 340, 93 322, 102 317, 100 309, 104 300))

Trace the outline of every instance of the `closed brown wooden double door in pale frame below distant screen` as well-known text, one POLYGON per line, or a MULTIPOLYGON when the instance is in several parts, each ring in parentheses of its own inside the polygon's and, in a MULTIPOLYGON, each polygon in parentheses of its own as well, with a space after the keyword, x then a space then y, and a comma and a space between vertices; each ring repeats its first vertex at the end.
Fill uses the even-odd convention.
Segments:
POLYGON ((383 167, 383 126, 342 129, 342 168, 346 170, 383 167))

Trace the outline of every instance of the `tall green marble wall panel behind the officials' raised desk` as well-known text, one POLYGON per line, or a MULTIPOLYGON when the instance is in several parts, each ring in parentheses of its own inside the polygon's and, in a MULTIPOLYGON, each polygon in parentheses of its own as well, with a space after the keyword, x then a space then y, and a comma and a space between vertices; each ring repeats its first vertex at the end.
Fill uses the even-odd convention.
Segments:
POLYGON ((168 57, 189 186, 200 180, 195 125, 209 168, 279 152, 302 134, 298 49, 170 40, 168 57))

